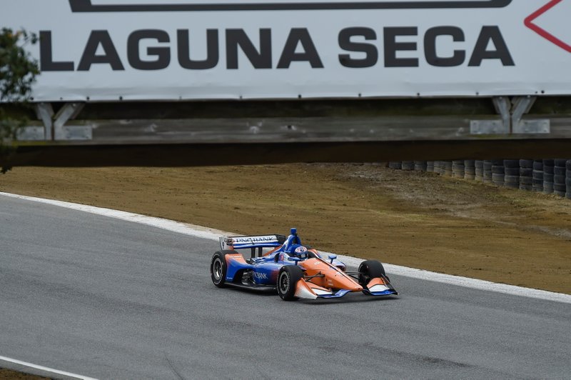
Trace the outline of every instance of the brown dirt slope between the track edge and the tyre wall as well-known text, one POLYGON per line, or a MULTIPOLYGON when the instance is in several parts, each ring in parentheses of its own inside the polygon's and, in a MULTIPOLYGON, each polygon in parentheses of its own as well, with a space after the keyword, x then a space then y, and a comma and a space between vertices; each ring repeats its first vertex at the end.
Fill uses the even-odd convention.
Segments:
MULTIPOLYGON (((571 201, 384 165, 16 168, 0 191, 571 294, 571 201)), ((216 249, 216 244, 213 244, 216 249)), ((210 255, 211 252, 205 252, 210 255)))

